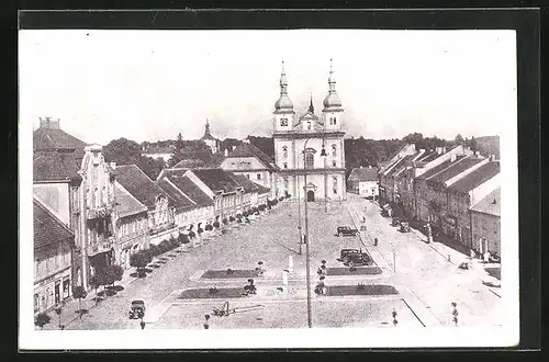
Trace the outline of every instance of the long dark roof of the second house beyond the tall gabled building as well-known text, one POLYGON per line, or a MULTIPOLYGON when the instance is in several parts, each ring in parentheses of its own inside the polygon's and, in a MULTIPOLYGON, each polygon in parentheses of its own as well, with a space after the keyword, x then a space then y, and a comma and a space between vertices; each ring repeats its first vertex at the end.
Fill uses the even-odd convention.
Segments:
MULTIPOLYGON (((142 204, 153 210, 156 207, 156 199, 166 193, 156 183, 153 182, 137 166, 124 165, 116 167, 116 181, 120 182, 135 199, 142 204)), ((169 195, 168 204, 175 205, 176 202, 169 195)))

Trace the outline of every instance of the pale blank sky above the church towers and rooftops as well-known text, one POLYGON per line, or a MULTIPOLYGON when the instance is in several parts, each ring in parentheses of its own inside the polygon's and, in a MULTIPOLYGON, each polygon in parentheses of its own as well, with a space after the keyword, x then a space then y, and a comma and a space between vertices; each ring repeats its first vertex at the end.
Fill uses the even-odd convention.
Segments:
POLYGON ((514 31, 20 31, 20 122, 108 144, 270 136, 284 60, 321 114, 329 60, 346 136, 452 139, 516 128, 514 31))

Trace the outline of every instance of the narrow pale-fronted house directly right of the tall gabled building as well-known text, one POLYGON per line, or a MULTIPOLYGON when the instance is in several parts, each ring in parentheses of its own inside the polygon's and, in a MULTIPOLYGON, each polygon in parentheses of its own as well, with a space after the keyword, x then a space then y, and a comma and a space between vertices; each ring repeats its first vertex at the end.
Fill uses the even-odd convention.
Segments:
POLYGON ((148 208, 135 199, 120 182, 114 183, 116 264, 130 268, 130 256, 148 249, 148 208))

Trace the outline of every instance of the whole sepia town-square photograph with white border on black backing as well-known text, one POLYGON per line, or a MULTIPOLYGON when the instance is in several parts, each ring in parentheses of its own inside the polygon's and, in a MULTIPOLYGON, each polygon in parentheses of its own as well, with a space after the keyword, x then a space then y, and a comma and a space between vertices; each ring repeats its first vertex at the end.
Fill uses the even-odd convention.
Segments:
POLYGON ((21 30, 22 348, 517 344, 516 47, 21 30))

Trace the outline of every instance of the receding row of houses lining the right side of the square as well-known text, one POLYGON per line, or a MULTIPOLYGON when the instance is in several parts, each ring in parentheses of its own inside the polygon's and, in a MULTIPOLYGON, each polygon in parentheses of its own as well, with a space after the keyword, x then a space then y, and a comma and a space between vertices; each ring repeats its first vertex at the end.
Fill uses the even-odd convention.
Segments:
POLYGON ((378 170, 379 199, 395 216, 429 223, 467 248, 500 256, 500 160, 461 145, 400 149, 378 170))

